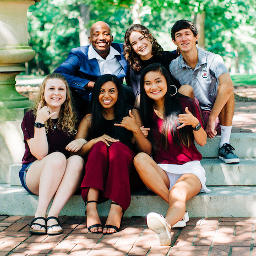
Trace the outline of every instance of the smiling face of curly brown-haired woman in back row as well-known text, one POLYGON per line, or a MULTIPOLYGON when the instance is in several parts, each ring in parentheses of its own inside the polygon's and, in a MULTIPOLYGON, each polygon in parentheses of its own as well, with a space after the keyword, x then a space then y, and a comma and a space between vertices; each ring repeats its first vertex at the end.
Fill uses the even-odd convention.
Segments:
POLYGON ((152 55, 152 43, 139 31, 133 31, 129 37, 130 45, 143 61, 150 59, 152 55))

